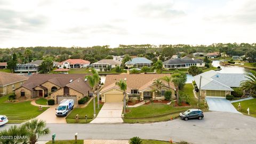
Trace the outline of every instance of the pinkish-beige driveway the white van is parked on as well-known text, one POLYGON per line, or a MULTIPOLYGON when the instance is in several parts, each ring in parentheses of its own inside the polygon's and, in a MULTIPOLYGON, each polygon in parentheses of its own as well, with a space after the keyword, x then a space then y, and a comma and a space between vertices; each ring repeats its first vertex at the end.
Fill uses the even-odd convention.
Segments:
POLYGON ((47 110, 44 111, 44 113, 37 116, 36 118, 45 121, 47 124, 65 124, 65 123, 67 123, 65 117, 55 116, 55 112, 56 112, 55 108, 57 108, 57 107, 58 107, 58 105, 54 105, 54 106, 48 108, 47 110))

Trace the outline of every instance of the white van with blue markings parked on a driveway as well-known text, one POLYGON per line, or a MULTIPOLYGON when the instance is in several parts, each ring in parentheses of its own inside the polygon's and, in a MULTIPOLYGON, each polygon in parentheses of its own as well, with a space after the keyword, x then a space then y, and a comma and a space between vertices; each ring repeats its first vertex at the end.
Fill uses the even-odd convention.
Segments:
POLYGON ((67 116, 69 111, 74 108, 73 99, 63 99, 56 108, 56 116, 67 116))

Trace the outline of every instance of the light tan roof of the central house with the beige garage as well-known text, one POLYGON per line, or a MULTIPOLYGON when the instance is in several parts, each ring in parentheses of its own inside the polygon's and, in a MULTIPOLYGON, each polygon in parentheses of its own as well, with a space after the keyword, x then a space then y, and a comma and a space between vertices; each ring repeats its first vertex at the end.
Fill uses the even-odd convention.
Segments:
MULTIPOLYGON (((164 76, 171 76, 170 74, 125 74, 125 75, 107 75, 103 89, 100 92, 111 89, 112 87, 117 87, 115 83, 120 79, 126 78, 127 83, 127 93, 130 93, 132 89, 138 89, 139 91, 146 89, 148 86, 153 84, 153 81, 157 78, 162 78, 164 76)), ((163 81, 164 82, 164 81, 163 81)), ((164 82, 165 85, 168 85, 164 82)), ((173 83, 171 87, 174 89, 173 83)))

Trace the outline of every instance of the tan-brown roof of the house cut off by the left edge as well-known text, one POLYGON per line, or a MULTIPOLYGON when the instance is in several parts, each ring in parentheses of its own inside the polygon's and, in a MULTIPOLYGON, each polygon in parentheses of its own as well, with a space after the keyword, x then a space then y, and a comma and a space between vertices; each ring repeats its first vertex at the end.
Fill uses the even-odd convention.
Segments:
POLYGON ((28 79, 26 76, 0 72, 0 86, 25 81, 26 79, 28 79))

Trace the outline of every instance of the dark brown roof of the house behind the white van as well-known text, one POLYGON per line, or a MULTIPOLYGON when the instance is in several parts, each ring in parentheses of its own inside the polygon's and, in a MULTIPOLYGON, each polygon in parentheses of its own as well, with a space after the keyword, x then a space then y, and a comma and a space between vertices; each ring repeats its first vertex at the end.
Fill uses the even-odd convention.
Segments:
POLYGON ((60 87, 66 86, 70 80, 75 81, 78 78, 85 78, 86 74, 34 74, 22 85, 28 90, 33 91, 35 86, 41 85, 47 81, 60 87))

